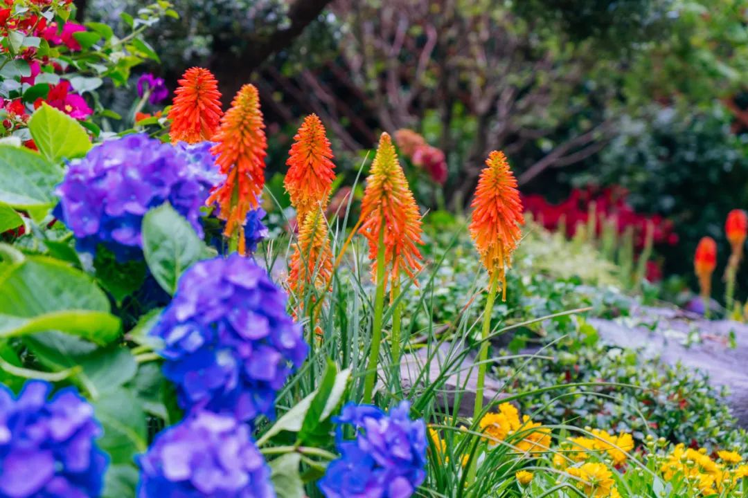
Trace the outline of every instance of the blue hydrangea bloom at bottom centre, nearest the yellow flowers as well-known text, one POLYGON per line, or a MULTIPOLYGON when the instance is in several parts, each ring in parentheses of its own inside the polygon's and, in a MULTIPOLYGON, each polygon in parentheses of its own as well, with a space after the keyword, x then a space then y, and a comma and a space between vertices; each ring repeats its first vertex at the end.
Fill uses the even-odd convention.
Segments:
POLYGON ((340 458, 332 461, 319 488, 328 498, 408 498, 426 479, 426 424, 408 417, 403 401, 385 414, 373 405, 349 403, 337 428, 340 458), (343 424, 356 438, 343 439, 343 424))

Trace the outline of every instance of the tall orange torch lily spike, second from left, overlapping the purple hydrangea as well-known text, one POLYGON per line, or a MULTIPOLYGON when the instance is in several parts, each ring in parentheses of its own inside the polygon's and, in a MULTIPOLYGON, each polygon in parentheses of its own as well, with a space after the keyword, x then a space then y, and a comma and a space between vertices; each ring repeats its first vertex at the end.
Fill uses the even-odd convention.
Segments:
POLYGON ((236 93, 213 140, 216 144, 210 151, 218 156, 215 164, 226 175, 226 181, 213 191, 206 204, 218 202, 218 217, 226 220, 224 235, 238 235, 239 254, 245 255, 244 224, 248 211, 260 206, 268 149, 257 88, 245 84, 236 93))

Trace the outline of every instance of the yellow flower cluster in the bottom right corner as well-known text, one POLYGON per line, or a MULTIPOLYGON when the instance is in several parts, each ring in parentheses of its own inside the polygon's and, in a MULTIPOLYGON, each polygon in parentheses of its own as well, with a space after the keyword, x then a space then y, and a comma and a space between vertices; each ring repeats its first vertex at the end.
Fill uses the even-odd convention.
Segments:
POLYGON ((667 480, 681 473, 704 496, 725 494, 748 476, 748 465, 739 465, 743 457, 734 451, 717 452, 717 457, 714 461, 705 448, 686 448, 681 443, 667 455, 660 471, 667 480))

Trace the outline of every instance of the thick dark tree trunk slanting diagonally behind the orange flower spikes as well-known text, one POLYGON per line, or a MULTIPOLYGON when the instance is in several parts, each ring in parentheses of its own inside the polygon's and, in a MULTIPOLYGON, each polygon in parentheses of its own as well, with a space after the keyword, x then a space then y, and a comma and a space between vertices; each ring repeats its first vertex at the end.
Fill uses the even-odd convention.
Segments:
POLYGON ((230 102, 242 84, 248 83, 252 72, 276 52, 288 48, 332 0, 295 0, 289 7, 289 25, 269 35, 247 34, 247 49, 241 55, 214 47, 212 71, 221 83, 224 102, 230 102))

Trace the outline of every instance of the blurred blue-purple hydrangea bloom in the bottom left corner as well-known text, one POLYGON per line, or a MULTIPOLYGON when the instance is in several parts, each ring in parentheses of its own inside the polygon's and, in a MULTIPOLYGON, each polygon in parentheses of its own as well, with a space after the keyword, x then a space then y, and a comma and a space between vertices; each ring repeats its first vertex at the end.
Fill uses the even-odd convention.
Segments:
POLYGON ((17 398, 0 385, 0 498, 99 497, 107 458, 93 407, 75 389, 27 382, 17 398))

